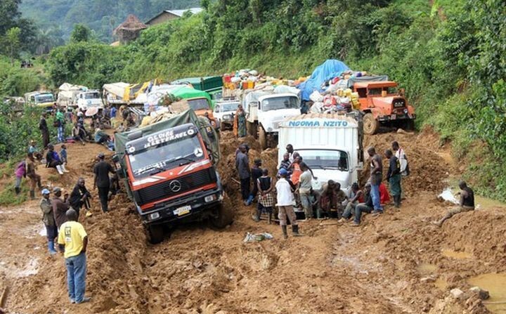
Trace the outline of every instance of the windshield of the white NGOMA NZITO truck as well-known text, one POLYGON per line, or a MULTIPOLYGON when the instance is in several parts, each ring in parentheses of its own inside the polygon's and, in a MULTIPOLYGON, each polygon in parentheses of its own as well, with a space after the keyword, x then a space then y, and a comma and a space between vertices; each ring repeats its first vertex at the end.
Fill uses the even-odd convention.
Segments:
POLYGON ((348 171, 348 154, 342 150, 297 150, 311 169, 348 171))

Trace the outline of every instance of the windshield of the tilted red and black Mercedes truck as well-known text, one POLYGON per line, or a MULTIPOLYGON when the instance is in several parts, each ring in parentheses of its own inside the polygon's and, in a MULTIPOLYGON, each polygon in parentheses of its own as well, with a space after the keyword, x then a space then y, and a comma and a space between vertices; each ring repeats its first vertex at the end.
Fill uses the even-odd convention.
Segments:
POLYGON ((204 152, 198 136, 161 143, 129 155, 130 166, 136 178, 152 176, 203 158, 204 152))

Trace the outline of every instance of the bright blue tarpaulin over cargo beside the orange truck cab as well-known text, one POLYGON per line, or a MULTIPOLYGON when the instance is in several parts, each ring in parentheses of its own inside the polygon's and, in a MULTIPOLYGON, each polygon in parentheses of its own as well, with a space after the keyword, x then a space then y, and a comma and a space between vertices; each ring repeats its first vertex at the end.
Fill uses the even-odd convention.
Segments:
POLYGON ((311 74, 311 77, 297 86, 301 90, 302 100, 310 100, 309 96, 313 91, 321 91, 323 82, 334 77, 339 77, 342 72, 349 70, 349 67, 339 60, 326 60, 318 65, 311 74))

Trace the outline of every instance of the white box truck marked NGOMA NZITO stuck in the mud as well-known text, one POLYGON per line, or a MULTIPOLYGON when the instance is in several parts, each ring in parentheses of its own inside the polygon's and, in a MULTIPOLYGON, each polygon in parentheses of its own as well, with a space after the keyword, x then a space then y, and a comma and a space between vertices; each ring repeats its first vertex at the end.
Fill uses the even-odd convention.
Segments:
POLYGON ((363 126, 360 114, 309 114, 285 119, 280 123, 278 164, 286 146, 292 144, 317 180, 320 190, 329 180, 341 183, 349 195, 363 169, 363 126))

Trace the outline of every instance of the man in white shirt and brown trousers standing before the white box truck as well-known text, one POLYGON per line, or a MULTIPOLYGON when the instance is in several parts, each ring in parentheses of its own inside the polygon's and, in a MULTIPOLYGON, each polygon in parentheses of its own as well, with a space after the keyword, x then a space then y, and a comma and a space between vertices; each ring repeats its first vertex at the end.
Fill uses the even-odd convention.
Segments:
POLYGON ((283 237, 286 239, 288 237, 287 233, 287 218, 290 219, 290 223, 292 224, 292 233, 295 237, 299 236, 299 225, 297 224, 297 216, 295 216, 295 212, 293 210, 293 193, 292 187, 290 183, 286 180, 288 172, 285 169, 280 169, 279 176, 280 179, 275 185, 276 191, 278 193, 278 206, 279 214, 278 218, 280 219, 281 230, 283 230, 283 237))

